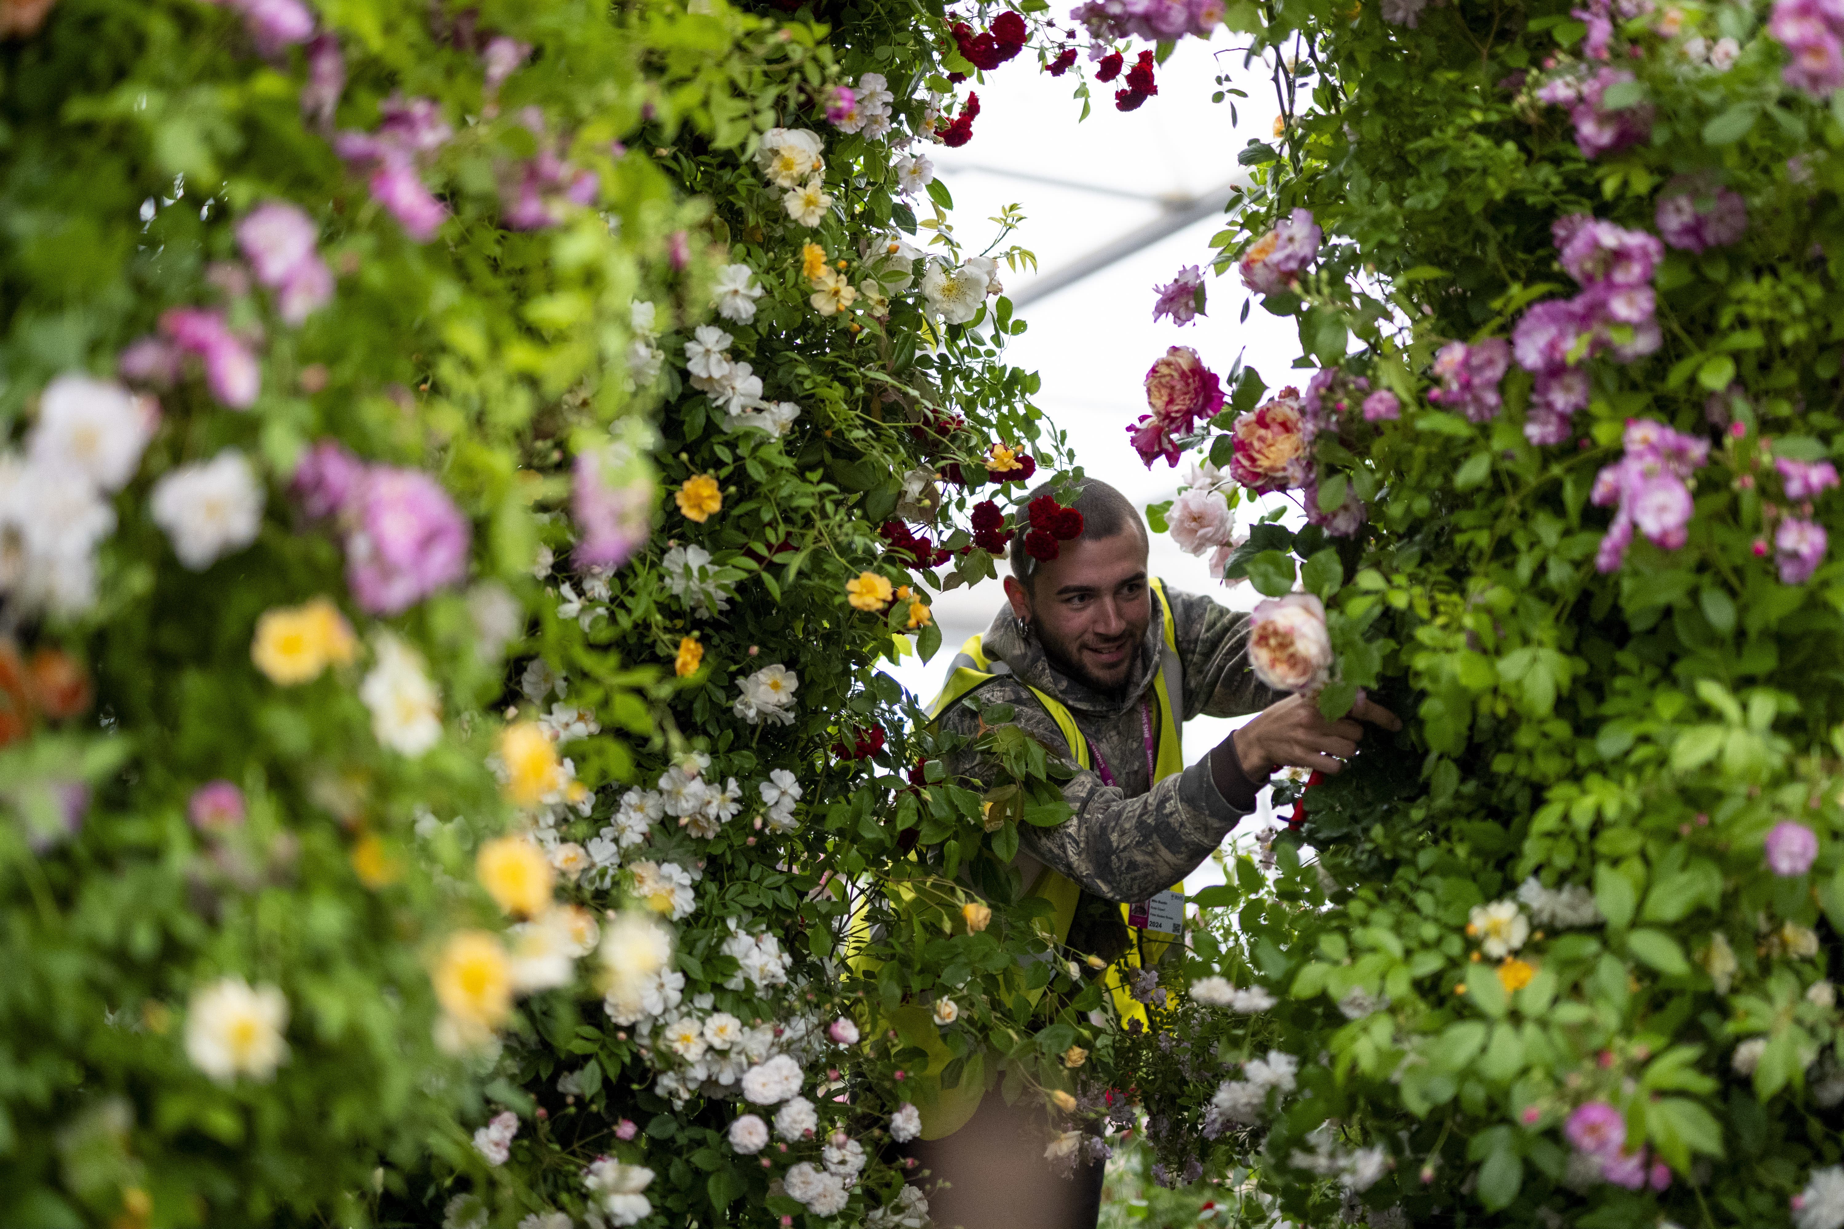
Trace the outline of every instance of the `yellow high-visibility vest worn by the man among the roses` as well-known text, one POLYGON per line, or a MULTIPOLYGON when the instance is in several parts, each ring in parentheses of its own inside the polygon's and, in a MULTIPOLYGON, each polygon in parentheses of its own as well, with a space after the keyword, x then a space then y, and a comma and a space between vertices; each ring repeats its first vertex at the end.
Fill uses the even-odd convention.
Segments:
MULTIPOLYGON (((1158 580, 1152 580, 1151 584, 1154 597, 1158 597, 1160 612, 1165 615, 1165 650, 1160 654, 1160 669, 1152 676, 1152 693, 1158 698, 1158 750, 1152 765, 1152 783, 1158 783, 1173 774, 1184 772, 1184 744, 1178 733, 1178 709, 1173 704, 1171 680, 1180 680, 1178 704, 1184 702, 1184 695, 1171 603, 1165 599, 1164 584, 1158 580)), ((961 654, 952 665, 953 669, 948 673, 948 684, 929 706, 929 717, 939 717, 950 704, 964 696, 974 687, 1009 673, 1003 663, 994 665, 987 658, 979 636, 972 636, 964 645, 961 645, 961 654)), ((1044 706, 1044 711, 1051 715, 1051 720, 1057 722, 1064 741, 1070 744, 1070 754, 1075 757, 1077 767, 1084 772, 1092 772, 1095 765, 1090 755, 1088 737, 1084 737, 1081 726, 1077 726, 1075 715, 1055 696, 1038 691, 1029 684, 1025 684, 1025 687, 1036 702, 1044 706)), ((1173 884, 1173 892, 1182 890, 1182 883, 1173 884)), ((913 890, 898 888, 898 905, 902 905, 902 901, 913 895, 913 890)), ((1051 938, 1058 945, 1066 943, 1070 938, 1070 925, 1075 921, 1077 901, 1082 895, 1081 884, 1046 866, 1025 895, 1049 901, 1051 921, 1046 938, 1051 938)), ((1121 921, 1127 923, 1132 942, 1127 945, 1127 953, 1103 973, 1103 984, 1114 997, 1114 1008, 1121 1024, 1125 1026, 1127 1021, 1138 1019, 1141 1026, 1145 1026, 1149 1024, 1147 1012, 1132 997, 1129 978, 1136 969, 1158 964, 1158 960, 1165 954, 1165 949, 1178 936, 1169 931, 1136 927, 1132 923, 1132 907, 1121 905, 1119 908, 1121 921)), ((870 971, 870 962, 865 958, 857 958, 852 964, 859 973, 870 971)), ((1042 991, 1029 995, 1033 1004, 1040 993, 1042 991)), ((922 1082, 924 1087, 929 1087, 933 1093, 933 1096, 924 1094, 916 1100, 916 1109, 922 1115, 922 1139, 944 1139, 966 1126, 968 1118, 974 1117, 974 1111, 979 1109, 979 1102, 996 1076, 996 1072, 988 1071, 985 1054, 981 1050, 970 1054, 961 1074, 961 1082, 952 1089, 942 1089, 939 1085, 940 1072, 950 1061, 953 1061, 953 1054, 946 1045, 942 1045, 931 1012, 924 1006, 900 1006, 894 1012, 885 1013, 881 1026, 894 1028, 904 1045, 913 1045, 926 1050, 929 1056, 929 1061, 922 1071, 905 1072, 909 1080, 922 1082), (928 1100, 933 1100, 933 1106, 926 1106, 924 1102, 928 1100)))

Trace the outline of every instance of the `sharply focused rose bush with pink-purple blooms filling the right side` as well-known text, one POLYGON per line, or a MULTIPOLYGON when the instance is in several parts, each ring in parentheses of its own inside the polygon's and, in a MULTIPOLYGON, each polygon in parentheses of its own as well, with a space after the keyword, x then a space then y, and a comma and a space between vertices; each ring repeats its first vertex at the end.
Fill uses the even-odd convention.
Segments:
POLYGON ((1213 267, 1313 374, 1232 372, 1188 485, 1304 514, 1217 556, 1294 603, 1276 682, 1411 720, 1147 988, 1117 1078, 1160 1174, 1248 1225, 1838 1229, 1838 24, 1228 20, 1283 116, 1213 267))

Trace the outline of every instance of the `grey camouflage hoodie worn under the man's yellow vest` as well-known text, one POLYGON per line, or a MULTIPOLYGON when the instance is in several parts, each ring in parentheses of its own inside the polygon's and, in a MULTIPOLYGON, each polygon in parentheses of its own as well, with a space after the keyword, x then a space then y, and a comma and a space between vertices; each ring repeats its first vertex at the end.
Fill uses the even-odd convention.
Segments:
MULTIPOLYGON (((1165 597, 1176 625, 1182 665, 1184 711, 1175 713, 1178 720, 1200 713, 1210 717, 1254 713, 1282 698, 1248 669, 1247 614, 1219 606, 1208 597, 1178 593, 1169 586, 1165 597)), ((1252 800, 1237 800, 1241 805, 1224 800, 1212 778, 1208 757, 1147 789, 1140 704, 1149 700, 1154 706, 1156 737, 1158 700, 1152 696, 1152 676, 1165 650, 1164 612, 1158 599, 1152 601, 1152 621, 1140 645, 1140 658, 1119 696, 1093 691, 1057 671, 1046 660, 1044 647, 1034 638, 1027 641, 1020 634, 1011 610, 1001 610, 992 619, 983 647, 994 663, 1005 663, 1011 678, 998 678, 981 687, 981 702, 1016 706, 1018 726, 1044 743, 1051 755, 1075 768, 1062 730, 1022 684, 1058 698, 1101 752, 1116 781, 1106 785, 1099 772, 1079 770, 1062 790, 1075 814, 1057 827, 1025 827, 1014 866, 1027 888, 1047 864, 1082 884, 1086 895, 1101 901, 1149 899, 1195 870, 1252 809, 1252 800)), ((1173 695, 1173 702, 1180 704, 1180 698, 1173 695)), ((963 706, 950 709, 942 722, 957 733, 972 733, 977 724, 974 713, 963 706)), ((948 770, 988 787, 1005 779, 996 763, 975 759, 972 754, 963 754, 957 763, 948 765, 948 770)), ((1084 910, 1088 916, 1099 912, 1084 910)), ((1117 927, 1117 914, 1114 916, 1117 927)), ((1112 943, 1099 942, 1101 936, 1093 938, 1095 942, 1081 943, 1071 932, 1070 942, 1081 951, 1108 956, 1101 949, 1112 943)), ((1125 942, 1125 932, 1117 938, 1125 942)))

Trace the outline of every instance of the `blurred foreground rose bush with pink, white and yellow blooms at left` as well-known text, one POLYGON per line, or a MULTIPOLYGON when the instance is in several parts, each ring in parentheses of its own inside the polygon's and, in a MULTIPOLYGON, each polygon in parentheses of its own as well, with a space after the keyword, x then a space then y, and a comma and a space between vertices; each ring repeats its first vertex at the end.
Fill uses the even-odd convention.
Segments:
MULTIPOLYGON (((644 477, 629 304, 712 282, 651 149, 736 147, 800 57, 671 6, 0 18, 0 1203, 361 1223, 594 943, 496 844, 502 794, 575 798, 485 709, 529 461, 644 477)), ((651 733, 644 676, 596 685, 651 733)))

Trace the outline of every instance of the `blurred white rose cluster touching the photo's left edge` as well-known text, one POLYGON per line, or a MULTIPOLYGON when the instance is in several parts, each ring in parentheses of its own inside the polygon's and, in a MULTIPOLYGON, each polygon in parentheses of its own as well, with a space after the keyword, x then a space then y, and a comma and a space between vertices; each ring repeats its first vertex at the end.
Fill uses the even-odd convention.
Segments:
POLYGON ((0 453, 0 593, 22 612, 77 614, 96 601, 96 545, 116 527, 109 496, 140 468, 157 415, 77 372, 44 387, 26 455, 0 453))

